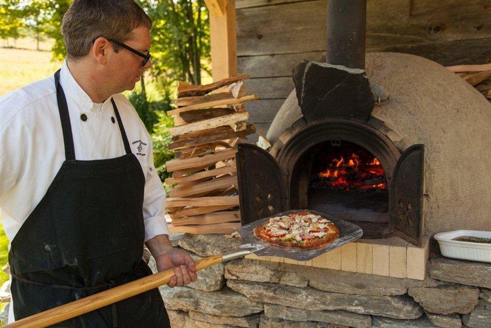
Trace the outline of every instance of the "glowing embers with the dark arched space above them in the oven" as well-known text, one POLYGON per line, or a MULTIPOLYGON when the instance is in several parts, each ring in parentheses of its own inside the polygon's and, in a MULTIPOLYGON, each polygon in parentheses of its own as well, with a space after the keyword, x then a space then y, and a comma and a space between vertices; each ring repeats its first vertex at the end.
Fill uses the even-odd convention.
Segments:
POLYGON ((350 143, 326 143, 314 155, 310 187, 316 189, 384 191, 385 172, 366 149, 350 143))

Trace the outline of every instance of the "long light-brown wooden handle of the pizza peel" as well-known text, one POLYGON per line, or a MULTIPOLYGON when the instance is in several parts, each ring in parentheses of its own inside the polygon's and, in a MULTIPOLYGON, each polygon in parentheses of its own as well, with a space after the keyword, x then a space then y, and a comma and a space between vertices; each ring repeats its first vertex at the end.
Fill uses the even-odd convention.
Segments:
MULTIPOLYGON (((195 262, 196 271, 221 263, 221 255, 205 257, 195 262)), ((4 327, 47 327, 67 319, 94 311, 109 304, 119 302, 122 299, 149 291, 167 284, 174 275, 174 268, 155 273, 144 278, 120 285, 107 291, 97 293, 86 298, 78 299, 64 305, 57 306, 30 317, 13 322, 4 327)))

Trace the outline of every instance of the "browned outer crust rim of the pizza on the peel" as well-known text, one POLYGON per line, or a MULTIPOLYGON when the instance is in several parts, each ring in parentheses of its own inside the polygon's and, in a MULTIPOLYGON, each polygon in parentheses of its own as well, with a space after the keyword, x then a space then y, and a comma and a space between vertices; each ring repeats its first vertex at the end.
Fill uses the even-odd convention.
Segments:
MULTIPOLYGON (((308 215, 308 214, 314 214, 310 211, 301 211, 297 213, 292 213, 289 216, 290 217, 295 217, 299 215, 308 215)), ((280 247, 288 247, 288 248, 298 248, 298 249, 316 249, 323 247, 329 243, 331 243, 334 239, 336 239, 339 236, 339 229, 334 225, 332 222, 328 222, 327 226, 329 228, 329 231, 326 236, 323 236, 321 238, 316 238, 312 239, 310 241, 304 241, 302 244, 300 244, 297 241, 282 241, 280 239, 272 239, 264 234, 264 232, 268 229, 268 223, 270 223, 269 220, 264 222, 263 224, 257 226, 254 228, 254 236, 256 238, 261 239, 262 241, 271 244, 271 245, 276 245, 280 247)))

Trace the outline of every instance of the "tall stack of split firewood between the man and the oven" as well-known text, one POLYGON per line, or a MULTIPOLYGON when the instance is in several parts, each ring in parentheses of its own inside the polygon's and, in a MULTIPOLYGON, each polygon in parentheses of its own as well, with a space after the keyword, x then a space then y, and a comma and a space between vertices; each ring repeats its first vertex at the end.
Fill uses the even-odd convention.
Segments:
POLYGON ((167 112, 174 118, 170 129, 175 159, 166 163, 175 184, 166 200, 172 219, 171 232, 227 234, 240 226, 237 209, 237 143, 255 132, 247 124, 244 102, 257 99, 247 95, 246 74, 212 84, 194 86, 179 83, 177 109, 167 112))

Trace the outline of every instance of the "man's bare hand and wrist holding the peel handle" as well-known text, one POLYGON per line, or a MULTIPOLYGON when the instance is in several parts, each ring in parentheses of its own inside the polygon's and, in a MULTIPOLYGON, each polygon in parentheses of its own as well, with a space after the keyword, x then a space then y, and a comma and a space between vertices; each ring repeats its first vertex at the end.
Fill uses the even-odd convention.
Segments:
POLYGON ((196 267, 191 256, 170 243, 167 235, 158 235, 147 240, 146 245, 157 263, 157 270, 174 268, 169 287, 183 286, 197 280, 196 267))

